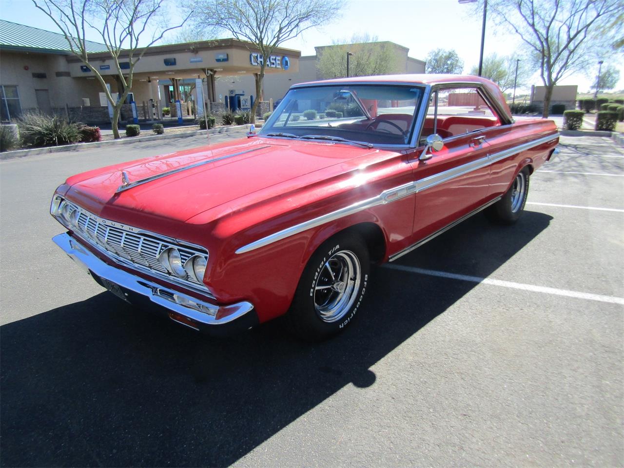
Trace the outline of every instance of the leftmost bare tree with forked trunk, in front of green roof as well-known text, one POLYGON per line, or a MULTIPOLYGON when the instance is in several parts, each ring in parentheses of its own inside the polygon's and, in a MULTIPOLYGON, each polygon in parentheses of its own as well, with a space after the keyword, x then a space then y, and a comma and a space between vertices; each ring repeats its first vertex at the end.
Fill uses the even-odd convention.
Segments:
MULTIPOLYGON (((167 31, 177 26, 159 28, 149 36, 148 29, 166 20, 166 0, 32 0, 37 8, 49 16, 61 30, 69 45, 69 50, 89 67, 99 80, 106 99, 110 102, 113 115, 110 119, 113 135, 119 138, 119 115, 127 95, 132 90, 134 67, 145 51, 159 41, 167 31), (100 36, 114 62, 117 80, 123 88, 117 100, 113 99, 104 77, 97 66, 90 62, 87 34, 95 32, 100 36), (144 46, 139 47, 142 36, 148 36, 144 46), (122 69, 120 62, 128 62, 122 69)), ((190 14, 189 14, 190 16, 190 14)))

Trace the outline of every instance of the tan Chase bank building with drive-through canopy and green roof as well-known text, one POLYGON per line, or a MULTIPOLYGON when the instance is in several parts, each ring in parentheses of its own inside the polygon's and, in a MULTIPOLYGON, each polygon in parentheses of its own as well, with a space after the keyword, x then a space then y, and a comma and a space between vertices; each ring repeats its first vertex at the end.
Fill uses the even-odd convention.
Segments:
MULTIPOLYGON (((405 57, 402 72, 424 72, 424 62, 407 57, 407 48, 392 44, 405 57)), ((123 92, 115 64, 104 44, 88 42, 89 61, 98 67, 112 93, 123 92)), ((317 52, 323 47, 317 47, 317 52)), ((107 99, 89 67, 67 51, 62 34, 0 19, 1 120, 24 112, 64 112, 87 123, 110 122, 107 99)), ((150 47, 134 68, 128 102, 135 102, 139 119, 163 115, 189 117, 202 102, 209 112, 250 109, 255 99, 254 74, 266 61, 260 114, 271 100, 281 99, 298 82, 318 79, 316 56, 278 48, 270 57, 236 39, 188 42, 150 47), (180 105, 176 102, 179 101, 180 105)), ((120 67, 129 67, 122 55, 120 67)), ((124 106, 125 107, 125 106, 124 106)), ((122 110, 122 120, 131 113, 122 110)))

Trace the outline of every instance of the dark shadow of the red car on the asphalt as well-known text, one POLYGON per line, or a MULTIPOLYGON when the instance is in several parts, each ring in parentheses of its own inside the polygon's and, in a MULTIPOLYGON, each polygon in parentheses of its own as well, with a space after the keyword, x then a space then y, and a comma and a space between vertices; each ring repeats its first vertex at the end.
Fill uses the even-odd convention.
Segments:
MULTIPOLYGON (((551 220, 477 215, 397 263, 488 276, 551 220)), ((371 366, 475 286, 374 274, 358 320, 319 344, 279 322, 213 339, 107 292, 0 327, 0 464, 232 464, 344 386, 373 385, 371 366)))

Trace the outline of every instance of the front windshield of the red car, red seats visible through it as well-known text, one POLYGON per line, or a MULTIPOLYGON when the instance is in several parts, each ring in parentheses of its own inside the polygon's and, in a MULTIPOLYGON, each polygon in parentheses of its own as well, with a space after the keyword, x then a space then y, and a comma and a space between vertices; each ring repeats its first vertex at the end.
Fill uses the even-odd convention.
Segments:
POLYGON ((405 145, 411 139, 422 88, 325 85, 291 89, 260 135, 405 145))

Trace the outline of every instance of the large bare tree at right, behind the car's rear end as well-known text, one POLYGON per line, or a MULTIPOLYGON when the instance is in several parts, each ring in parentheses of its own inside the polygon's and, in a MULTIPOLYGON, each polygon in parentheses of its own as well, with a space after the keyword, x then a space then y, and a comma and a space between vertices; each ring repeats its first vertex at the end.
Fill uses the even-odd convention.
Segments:
POLYGON ((499 24, 529 46, 545 87, 543 117, 555 84, 615 43, 604 28, 624 11, 621 0, 490 0, 487 5, 499 24))

